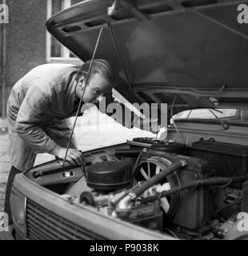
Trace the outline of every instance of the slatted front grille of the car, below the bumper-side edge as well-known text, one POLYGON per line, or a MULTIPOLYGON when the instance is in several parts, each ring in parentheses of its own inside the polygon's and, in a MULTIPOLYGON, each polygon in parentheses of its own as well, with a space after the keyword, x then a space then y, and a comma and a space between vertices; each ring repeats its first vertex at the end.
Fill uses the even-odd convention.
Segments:
POLYGON ((74 223, 46 210, 37 203, 26 201, 27 238, 32 240, 90 240, 103 239, 74 223))

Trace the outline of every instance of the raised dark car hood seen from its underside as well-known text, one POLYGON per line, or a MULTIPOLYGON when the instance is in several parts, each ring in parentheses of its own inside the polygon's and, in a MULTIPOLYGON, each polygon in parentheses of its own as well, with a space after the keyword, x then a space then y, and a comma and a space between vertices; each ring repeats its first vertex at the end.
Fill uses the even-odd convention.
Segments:
POLYGON ((246 107, 248 24, 238 5, 248 1, 84 1, 55 14, 47 30, 82 60, 108 59, 130 102, 166 102, 174 111, 246 107), (177 97, 175 97, 177 95, 177 97))

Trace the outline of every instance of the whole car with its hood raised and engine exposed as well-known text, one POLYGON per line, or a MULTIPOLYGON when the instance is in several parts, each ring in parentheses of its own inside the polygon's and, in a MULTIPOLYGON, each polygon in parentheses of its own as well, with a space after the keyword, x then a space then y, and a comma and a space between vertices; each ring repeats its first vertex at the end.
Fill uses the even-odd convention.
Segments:
POLYGON ((167 103, 160 114, 169 126, 157 140, 86 151, 84 167, 54 160, 18 174, 16 238, 247 238, 238 215, 247 212, 248 170, 241 4, 248 1, 120 0, 114 9, 91 0, 46 22, 82 60, 104 26, 96 58, 118 70, 115 89, 130 103, 167 103))

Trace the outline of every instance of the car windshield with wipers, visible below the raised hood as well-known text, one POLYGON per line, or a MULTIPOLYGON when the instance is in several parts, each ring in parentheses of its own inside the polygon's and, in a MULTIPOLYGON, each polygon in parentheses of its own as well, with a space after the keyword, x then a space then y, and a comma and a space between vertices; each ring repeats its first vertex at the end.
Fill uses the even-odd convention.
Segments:
POLYGON ((174 120, 182 119, 222 119, 228 122, 248 122, 248 110, 238 109, 196 109, 185 110, 174 115, 174 120))

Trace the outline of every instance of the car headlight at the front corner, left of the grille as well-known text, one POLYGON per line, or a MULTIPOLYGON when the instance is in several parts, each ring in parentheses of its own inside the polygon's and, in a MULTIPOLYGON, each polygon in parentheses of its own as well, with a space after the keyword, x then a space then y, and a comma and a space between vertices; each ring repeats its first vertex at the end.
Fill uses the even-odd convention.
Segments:
POLYGON ((26 197, 14 188, 10 195, 10 207, 14 224, 26 234, 26 197))

